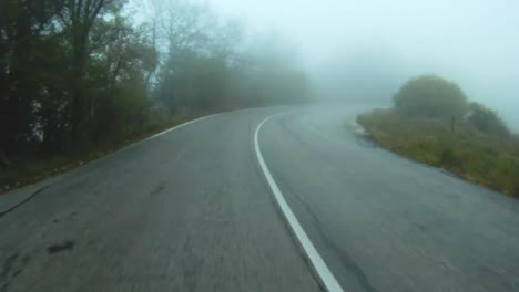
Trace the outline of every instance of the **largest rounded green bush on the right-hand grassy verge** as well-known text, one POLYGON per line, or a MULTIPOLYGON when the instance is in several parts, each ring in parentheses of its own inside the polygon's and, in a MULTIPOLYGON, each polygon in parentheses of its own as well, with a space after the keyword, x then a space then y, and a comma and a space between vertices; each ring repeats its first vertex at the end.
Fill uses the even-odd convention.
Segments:
POLYGON ((467 111, 467 96, 461 88, 434 75, 407 81, 394 102, 398 111, 424 117, 462 117, 467 111))

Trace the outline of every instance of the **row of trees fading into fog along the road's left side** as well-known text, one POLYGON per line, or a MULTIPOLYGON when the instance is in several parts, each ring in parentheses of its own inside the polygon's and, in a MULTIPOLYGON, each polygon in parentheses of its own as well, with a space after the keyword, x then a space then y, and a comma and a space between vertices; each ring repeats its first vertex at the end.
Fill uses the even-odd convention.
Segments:
POLYGON ((275 43, 251 44, 205 6, 152 3, 132 14, 124 0, 0 1, 0 170, 163 116, 308 98, 305 73, 275 43))

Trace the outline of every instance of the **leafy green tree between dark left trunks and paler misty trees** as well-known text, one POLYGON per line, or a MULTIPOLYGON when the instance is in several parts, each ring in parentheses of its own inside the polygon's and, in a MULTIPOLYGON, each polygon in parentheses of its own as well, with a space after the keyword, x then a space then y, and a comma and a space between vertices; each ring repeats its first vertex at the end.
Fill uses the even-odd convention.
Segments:
POLYGON ((86 122, 93 140, 128 134, 145 123, 149 75, 157 65, 146 32, 119 13, 92 30, 98 41, 88 67, 92 97, 86 122))

